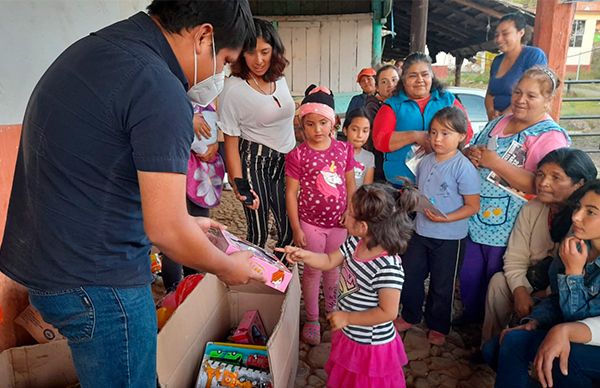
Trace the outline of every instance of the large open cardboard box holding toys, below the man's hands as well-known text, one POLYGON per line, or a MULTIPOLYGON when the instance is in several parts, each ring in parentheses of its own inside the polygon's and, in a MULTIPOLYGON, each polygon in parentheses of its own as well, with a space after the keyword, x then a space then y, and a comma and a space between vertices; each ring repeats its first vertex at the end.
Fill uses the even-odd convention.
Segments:
POLYGON ((258 310, 269 334, 274 388, 294 386, 298 367, 300 281, 294 269, 286 293, 250 282, 227 287, 207 275, 158 334, 157 372, 163 388, 192 386, 207 342, 227 337, 244 313, 258 310))

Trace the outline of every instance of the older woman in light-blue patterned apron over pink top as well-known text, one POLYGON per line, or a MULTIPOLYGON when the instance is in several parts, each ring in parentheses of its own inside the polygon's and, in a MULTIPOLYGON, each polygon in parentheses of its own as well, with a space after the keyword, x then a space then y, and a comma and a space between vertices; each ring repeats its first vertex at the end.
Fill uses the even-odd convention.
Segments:
POLYGON ((526 202, 525 193, 535 193, 538 162, 550 151, 569 146, 566 131, 548 114, 559 85, 546 67, 527 70, 513 89, 512 113, 490 121, 464 151, 478 167, 481 179, 481 205, 469 220, 460 273, 464 322, 483 319, 488 283, 502 270, 508 237, 526 202), (509 154, 518 165, 505 160, 509 154))

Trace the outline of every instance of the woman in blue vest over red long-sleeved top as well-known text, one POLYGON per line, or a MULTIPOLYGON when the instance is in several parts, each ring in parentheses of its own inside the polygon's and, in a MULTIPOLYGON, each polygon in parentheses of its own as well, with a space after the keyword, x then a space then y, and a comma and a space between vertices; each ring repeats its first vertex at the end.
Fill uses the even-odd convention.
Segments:
MULTIPOLYGON (((402 185, 402 177, 415 180, 415 175, 406 165, 414 154, 412 146, 421 147, 425 152, 431 151, 427 131, 437 111, 452 105, 465 110, 435 78, 431 58, 423 53, 412 53, 406 57, 400 80, 396 93, 385 101, 373 123, 373 143, 376 149, 385 153, 385 179, 397 186, 402 185)), ((466 142, 472 136, 473 129, 468 122, 466 142)))

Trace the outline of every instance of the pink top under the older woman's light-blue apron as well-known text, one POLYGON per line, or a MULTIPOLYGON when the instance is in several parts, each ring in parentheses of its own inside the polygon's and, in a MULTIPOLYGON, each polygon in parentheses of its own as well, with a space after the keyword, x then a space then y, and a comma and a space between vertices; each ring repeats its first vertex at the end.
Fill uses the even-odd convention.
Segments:
MULTIPOLYGON (((506 128, 512 116, 512 113, 510 113, 500 120, 494 129, 492 129, 490 136, 513 136, 504 134, 504 128, 506 128)), ((545 119, 551 119, 550 115, 546 115, 545 119)), ((559 131, 548 131, 540 134, 539 136, 527 136, 525 138, 525 143, 523 143, 523 149, 526 151, 527 155, 527 159, 525 160, 525 165, 523 167, 525 167, 527 171, 534 172, 540 160, 542 160, 542 158, 550 151, 568 146, 569 143, 567 138, 562 132, 559 131)))

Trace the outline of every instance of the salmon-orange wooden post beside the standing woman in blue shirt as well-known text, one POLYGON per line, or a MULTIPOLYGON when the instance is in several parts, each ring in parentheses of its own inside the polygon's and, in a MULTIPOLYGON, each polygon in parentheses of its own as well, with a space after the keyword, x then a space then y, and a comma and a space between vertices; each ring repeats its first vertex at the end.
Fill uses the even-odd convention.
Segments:
MULTIPOLYGON (((544 50, 548 57, 548 67, 556 72, 561 81, 565 79, 567 69, 567 51, 574 15, 575 2, 538 0, 533 44, 544 50)), ((556 91, 550 110, 556 121, 560 118, 562 91, 562 87, 556 91)))

